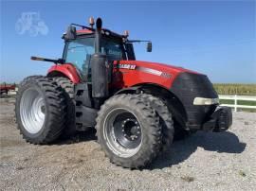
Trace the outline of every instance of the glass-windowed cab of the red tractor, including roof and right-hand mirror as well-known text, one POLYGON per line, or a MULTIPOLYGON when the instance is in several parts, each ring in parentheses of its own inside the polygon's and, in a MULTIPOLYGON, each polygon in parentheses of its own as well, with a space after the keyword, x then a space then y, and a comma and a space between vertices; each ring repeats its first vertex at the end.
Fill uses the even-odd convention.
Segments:
MULTIPOLYGON (((127 30, 120 35, 105 28, 100 29, 100 38, 97 38, 93 18, 89 22, 91 27, 71 24, 63 36, 63 61, 72 63, 83 81, 91 80, 91 59, 96 52, 105 55, 108 64, 114 61, 136 61, 133 43, 144 41, 129 41, 127 30), (77 26, 81 28, 77 30, 77 26)), ((148 42, 147 51, 151 52, 151 42, 145 42, 148 42)))

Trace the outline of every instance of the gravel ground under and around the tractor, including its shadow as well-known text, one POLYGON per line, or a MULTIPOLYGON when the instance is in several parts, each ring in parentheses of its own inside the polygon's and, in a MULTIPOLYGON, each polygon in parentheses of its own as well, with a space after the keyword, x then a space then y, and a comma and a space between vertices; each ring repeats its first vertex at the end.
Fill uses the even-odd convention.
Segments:
POLYGON ((0 190, 255 190, 256 113, 233 113, 229 131, 197 132, 139 171, 110 164, 93 132, 27 144, 16 130, 13 99, 0 101, 0 190))

